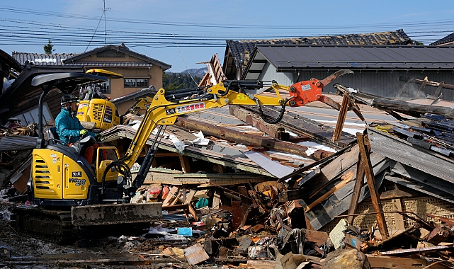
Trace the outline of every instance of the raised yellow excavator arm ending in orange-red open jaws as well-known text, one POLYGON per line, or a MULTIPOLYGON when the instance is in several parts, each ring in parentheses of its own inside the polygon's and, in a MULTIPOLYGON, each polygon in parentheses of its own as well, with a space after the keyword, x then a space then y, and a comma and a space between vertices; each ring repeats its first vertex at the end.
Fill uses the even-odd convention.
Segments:
MULTIPOLYGON (((306 105, 314 101, 321 101, 331 105, 339 110, 340 105, 322 94, 324 86, 344 74, 352 74, 351 70, 339 70, 331 74, 326 79, 310 79, 309 81, 300 81, 292 86, 283 86, 276 81, 272 81, 268 90, 273 90, 276 96, 263 96, 253 94, 259 88, 263 88, 263 81, 224 81, 208 89, 200 88, 191 90, 190 93, 202 93, 198 98, 180 99, 169 101, 168 97, 172 93, 166 93, 164 88, 159 89, 157 94, 152 98, 152 102, 144 115, 140 127, 138 128, 134 139, 127 149, 122 161, 130 168, 137 161, 149 135, 157 125, 173 125, 179 115, 194 113, 210 108, 221 108, 225 105, 261 105, 281 106, 281 115, 285 110, 285 105, 291 107, 306 105), (280 90, 288 91, 290 98, 280 96, 280 90)), ((184 97, 184 93, 179 97, 184 97)), ((273 122, 276 123, 276 122, 273 122)))

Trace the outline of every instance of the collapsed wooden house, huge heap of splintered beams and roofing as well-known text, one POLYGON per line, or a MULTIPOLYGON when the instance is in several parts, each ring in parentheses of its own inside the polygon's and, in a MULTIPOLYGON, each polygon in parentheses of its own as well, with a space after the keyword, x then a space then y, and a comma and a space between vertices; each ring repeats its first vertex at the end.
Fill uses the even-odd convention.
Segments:
MULTIPOLYGON (((213 77, 218 82, 225 76, 213 77)), ((152 168, 134 198, 162 202, 166 222, 152 224, 137 248, 159 249, 161 256, 191 265, 209 260, 248 268, 321 268, 347 261, 356 268, 452 266, 453 117, 452 103, 441 97, 450 96, 453 85, 399 81, 406 85, 399 98, 373 96, 345 81, 335 84, 340 96, 331 97, 341 103, 335 127, 289 110, 269 125, 256 110, 236 105, 178 118, 159 137, 152 168), (413 84, 420 89, 416 98, 405 90, 413 84), (399 121, 365 117, 367 125, 356 135, 341 132, 347 110, 364 114, 366 107, 399 121)), ((277 118, 280 110, 263 113, 277 118)), ((103 132, 104 142, 120 152, 142 120, 128 117, 128 124, 103 132)))

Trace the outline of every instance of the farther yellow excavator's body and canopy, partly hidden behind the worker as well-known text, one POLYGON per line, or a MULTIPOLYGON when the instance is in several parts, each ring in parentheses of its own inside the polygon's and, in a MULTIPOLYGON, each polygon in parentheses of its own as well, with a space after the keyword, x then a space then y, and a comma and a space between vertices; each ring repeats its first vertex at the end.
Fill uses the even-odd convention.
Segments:
MULTIPOLYGON (((123 76, 103 69, 90 69, 86 74, 104 76, 108 79, 121 79, 123 76)), ((110 98, 104 96, 103 89, 106 81, 88 83, 79 86, 79 108, 77 118, 84 122, 91 122, 94 130, 107 130, 120 124, 120 116, 110 98)))

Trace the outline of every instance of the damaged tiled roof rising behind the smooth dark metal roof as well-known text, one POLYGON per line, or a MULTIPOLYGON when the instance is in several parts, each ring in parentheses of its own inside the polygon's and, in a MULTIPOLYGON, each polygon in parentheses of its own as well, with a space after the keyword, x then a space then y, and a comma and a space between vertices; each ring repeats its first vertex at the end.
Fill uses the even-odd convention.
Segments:
MULTIPOLYGON (((232 53, 234 64, 242 64, 246 67, 249 57, 258 44, 280 44, 280 45, 410 45, 412 39, 399 29, 381 33, 363 33, 350 35, 330 35, 310 38, 283 38, 273 40, 227 40, 224 68, 229 64, 229 52, 232 53)), ((232 59, 231 59, 232 61, 232 59)), ((225 73, 229 73, 225 70, 225 73)))

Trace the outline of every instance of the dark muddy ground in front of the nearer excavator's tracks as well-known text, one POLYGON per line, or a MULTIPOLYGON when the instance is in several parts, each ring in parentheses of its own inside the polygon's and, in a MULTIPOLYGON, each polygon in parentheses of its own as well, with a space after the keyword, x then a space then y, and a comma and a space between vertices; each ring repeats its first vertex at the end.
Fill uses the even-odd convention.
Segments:
POLYGON ((186 248, 195 239, 166 241, 147 234, 147 230, 125 233, 127 236, 121 235, 121 231, 111 235, 82 230, 73 244, 58 245, 12 227, 11 206, 10 202, 1 201, 0 268, 191 268, 184 258, 159 253, 167 246, 186 248))

